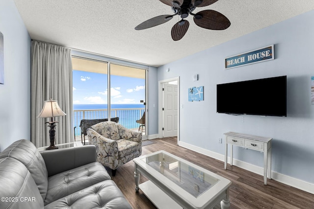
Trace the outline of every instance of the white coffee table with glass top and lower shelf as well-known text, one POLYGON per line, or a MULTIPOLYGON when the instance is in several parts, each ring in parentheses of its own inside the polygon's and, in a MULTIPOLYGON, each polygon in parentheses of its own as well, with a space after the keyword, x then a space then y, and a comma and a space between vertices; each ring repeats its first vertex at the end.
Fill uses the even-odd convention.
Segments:
POLYGON ((135 191, 139 189, 157 208, 230 208, 231 181, 166 151, 133 160, 135 191), (149 181, 139 185, 140 174, 149 181))

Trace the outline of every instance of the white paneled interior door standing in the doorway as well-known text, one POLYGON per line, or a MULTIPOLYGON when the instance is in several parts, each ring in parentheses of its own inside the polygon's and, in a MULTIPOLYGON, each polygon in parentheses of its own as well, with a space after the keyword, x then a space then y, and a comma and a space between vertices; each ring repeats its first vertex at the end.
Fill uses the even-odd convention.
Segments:
POLYGON ((178 85, 163 85, 163 137, 178 134, 178 85))

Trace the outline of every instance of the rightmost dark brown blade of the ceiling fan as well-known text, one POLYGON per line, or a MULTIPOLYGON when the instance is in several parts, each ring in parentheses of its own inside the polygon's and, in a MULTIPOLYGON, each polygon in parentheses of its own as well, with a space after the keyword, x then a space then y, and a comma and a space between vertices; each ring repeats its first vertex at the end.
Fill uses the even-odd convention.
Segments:
POLYGON ((214 10, 200 11, 194 15, 193 20, 198 26, 211 30, 224 30, 231 25, 226 16, 214 10))

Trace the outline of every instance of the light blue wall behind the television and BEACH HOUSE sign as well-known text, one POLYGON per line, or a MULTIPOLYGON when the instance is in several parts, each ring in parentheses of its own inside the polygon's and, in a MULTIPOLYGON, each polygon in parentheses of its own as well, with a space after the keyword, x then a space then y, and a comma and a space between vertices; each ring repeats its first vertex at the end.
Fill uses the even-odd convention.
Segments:
MULTIPOLYGON (((159 67, 158 80, 180 76, 180 140, 223 155, 223 134, 228 131, 271 137, 272 171, 313 184, 313 37, 314 11, 310 11, 159 67), (275 60, 224 70, 224 58, 271 44, 275 60), (193 82, 194 74, 199 74, 199 81, 193 82), (281 75, 287 75, 287 117, 216 113, 217 84, 281 75), (204 86, 204 101, 188 102, 188 88, 194 86, 204 86), (222 144, 218 138, 223 138, 222 144)), ((260 152, 235 147, 234 157, 263 166, 260 152)))

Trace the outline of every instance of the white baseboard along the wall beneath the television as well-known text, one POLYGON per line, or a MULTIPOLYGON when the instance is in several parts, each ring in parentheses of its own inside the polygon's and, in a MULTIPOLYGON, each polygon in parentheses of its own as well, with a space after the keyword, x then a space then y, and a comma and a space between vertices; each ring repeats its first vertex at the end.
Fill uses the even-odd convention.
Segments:
MULTIPOLYGON (((183 142, 183 141, 179 141, 179 146, 193 150, 195 152, 209 156, 219 161, 225 162, 225 156, 222 154, 212 152, 207 149, 204 149, 204 148, 201 148, 201 147, 198 147, 198 146, 195 146, 195 145, 183 142)), ((227 161, 228 163, 230 163, 230 157, 228 157, 227 161)), ((263 167, 259 167, 250 163, 245 163, 243 161, 236 160, 235 158, 233 159, 233 164, 237 167, 243 168, 245 170, 248 170, 248 171, 251 171, 253 173, 263 176, 263 170, 264 170, 263 167)), ((271 177, 272 177, 271 179, 277 182, 280 182, 285 185, 292 186, 292 187, 301 189, 303 191, 309 192, 311 194, 314 194, 314 184, 311 184, 303 180, 299 180, 299 179, 296 179, 296 178, 293 178, 293 177, 290 177, 281 173, 277 173, 274 171, 271 172, 271 177)))

